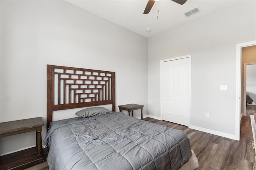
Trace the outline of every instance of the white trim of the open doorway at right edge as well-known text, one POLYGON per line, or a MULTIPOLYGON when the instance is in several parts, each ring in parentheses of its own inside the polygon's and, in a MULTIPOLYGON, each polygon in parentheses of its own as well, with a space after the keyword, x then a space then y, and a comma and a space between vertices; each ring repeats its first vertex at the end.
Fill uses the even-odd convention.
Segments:
POLYGON ((241 43, 236 45, 236 129, 235 138, 240 140, 240 117, 241 117, 241 59, 242 59, 242 47, 249 47, 256 45, 256 41, 250 41, 247 43, 241 43))

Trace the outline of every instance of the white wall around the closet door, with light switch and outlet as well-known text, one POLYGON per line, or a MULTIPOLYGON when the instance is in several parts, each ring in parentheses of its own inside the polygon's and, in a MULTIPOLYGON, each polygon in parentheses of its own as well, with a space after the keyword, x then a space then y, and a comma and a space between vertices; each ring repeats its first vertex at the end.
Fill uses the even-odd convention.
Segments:
POLYGON ((236 44, 256 39, 255 7, 256 1, 240 1, 148 40, 150 115, 161 116, 160 61, 192 55, 191 126, 234 137, 236 44))

